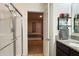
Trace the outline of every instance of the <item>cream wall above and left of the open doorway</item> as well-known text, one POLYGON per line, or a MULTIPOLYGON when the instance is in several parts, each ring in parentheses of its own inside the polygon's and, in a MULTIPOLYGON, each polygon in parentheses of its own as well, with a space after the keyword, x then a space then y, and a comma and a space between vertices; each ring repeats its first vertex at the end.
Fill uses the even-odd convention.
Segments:
POLYGON ((28 11, 44 12, 45 5, 43 3, 15 3, 15 7, 23 15, 23 53, 28 55, 28 38, 27 38, 27 21, 28 21, 28 11))

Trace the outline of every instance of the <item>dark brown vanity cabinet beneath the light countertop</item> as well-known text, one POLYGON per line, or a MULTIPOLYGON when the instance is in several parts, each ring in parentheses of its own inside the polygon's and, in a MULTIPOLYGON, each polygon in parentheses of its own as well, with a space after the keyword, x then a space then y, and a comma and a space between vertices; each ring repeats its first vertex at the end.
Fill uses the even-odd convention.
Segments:
POLYGON ((79 52, 56 41, 56 56, 79 56, 79 52))

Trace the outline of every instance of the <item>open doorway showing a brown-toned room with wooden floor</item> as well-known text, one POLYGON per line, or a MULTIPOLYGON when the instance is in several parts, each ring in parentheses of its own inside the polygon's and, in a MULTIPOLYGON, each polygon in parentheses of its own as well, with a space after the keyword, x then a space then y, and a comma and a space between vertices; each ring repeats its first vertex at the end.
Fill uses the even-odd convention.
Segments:
POLYGON ((28 12, 28 55, 43 56, 42 12, 28 12))

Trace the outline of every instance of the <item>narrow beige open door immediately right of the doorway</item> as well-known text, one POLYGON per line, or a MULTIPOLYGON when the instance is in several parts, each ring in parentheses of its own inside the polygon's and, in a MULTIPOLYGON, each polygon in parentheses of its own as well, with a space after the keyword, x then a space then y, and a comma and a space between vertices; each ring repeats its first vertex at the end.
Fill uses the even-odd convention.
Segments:
POLYGON ((49 56, 49 20, 48 20, 48 4, 45 4, 45 10, 44 10, 44 21, 43 21, 43 51, 44 51, 44 56, 49 56))

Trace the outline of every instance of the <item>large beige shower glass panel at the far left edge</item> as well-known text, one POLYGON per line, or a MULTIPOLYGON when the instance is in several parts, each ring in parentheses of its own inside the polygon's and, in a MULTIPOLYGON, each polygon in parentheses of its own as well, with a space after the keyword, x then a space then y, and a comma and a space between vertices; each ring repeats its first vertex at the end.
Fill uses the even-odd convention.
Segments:
POLYGON ((0 56, 13 56, 12 16, 9 10, 0 4, 0 56))

